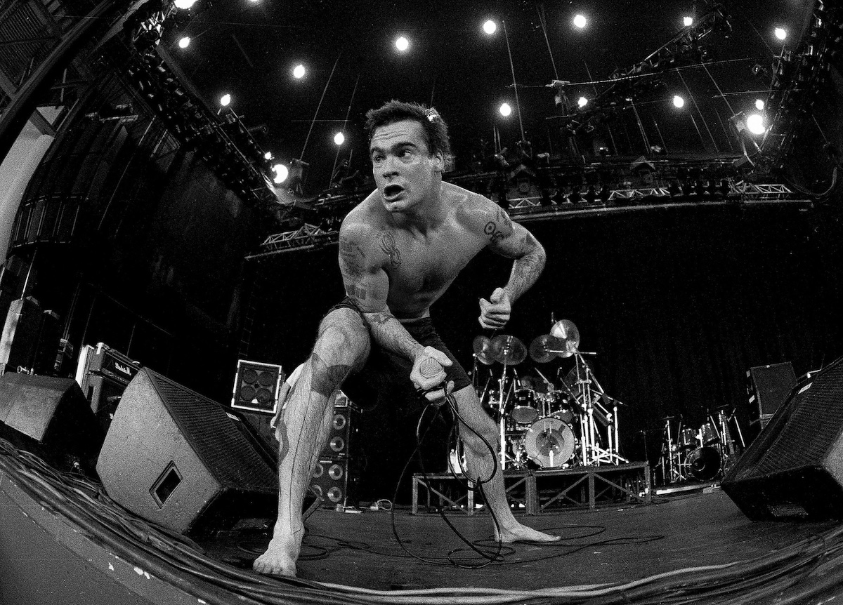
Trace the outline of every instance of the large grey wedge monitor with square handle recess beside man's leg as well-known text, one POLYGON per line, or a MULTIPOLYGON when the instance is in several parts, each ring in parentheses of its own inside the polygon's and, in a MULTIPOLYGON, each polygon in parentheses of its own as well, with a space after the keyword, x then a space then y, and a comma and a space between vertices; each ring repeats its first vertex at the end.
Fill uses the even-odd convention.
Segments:
POLYGON ((123 392, 97 470, 121 506, 180 533, 277 515, 275 469, 243 420, 148 368, 123 392))

